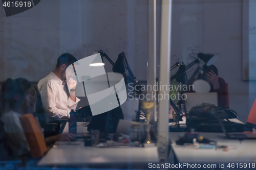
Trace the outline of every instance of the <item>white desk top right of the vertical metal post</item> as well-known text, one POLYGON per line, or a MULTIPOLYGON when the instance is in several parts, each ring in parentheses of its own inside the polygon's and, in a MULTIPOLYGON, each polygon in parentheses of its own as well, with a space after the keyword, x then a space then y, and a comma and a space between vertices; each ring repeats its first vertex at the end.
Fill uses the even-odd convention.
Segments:
MULTIPOLYGON (((242 123, 238 119, 232 122, 242 123)), ((180 122, 182 123, 182 122, 180 122)), ((220 163, 220 162, 254 162, 256 163, 256 140, 226 139, 224 133, 200 133, 201 136, 217 141, 218 145, 228 145, 229 151, 215 149, 188 149, 176 145, 176 140, 181 132, 169 132, 172 149, 180 163, 220 163)))

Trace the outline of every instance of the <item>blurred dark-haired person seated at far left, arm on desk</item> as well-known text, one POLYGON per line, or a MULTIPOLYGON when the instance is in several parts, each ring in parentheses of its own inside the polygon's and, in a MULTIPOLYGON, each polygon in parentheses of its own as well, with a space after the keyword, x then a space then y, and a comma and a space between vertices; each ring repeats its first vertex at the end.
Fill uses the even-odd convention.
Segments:
MULTIPOLYGON (((1 120, 7 135, 7 143, 13 157, 18 158, 30 152, 19 117, 22 114, 35 112, 36 92, 31 83, 23 78, 7 79, 0 91, 1 120)), ((45 138, 47 145, 57 140, 71 141, 73 134, 65 133, 45 138)))

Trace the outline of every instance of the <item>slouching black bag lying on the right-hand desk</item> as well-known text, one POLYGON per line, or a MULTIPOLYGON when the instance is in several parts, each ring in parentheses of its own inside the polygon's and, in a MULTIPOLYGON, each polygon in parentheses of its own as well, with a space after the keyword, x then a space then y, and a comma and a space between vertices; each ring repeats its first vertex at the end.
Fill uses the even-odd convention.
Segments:
POLYGON ((235 111, 215 105, 203 103, 193 107, 187 114, 186 126, 195 132, 223 132, 220 121, 227 133, 252 131, 252 127, 230 122, 230 118, 238 118, 235 111))

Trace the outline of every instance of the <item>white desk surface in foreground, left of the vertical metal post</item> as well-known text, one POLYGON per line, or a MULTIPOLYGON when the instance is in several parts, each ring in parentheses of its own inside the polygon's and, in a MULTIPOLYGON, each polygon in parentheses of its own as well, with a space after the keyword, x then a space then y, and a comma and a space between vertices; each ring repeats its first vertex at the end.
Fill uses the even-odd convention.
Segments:
POLYGON ((158 162, 154 148, 84 147, 83 141, 56 142, 38 166, 84 166, 89 164, 141 164, 158 162))

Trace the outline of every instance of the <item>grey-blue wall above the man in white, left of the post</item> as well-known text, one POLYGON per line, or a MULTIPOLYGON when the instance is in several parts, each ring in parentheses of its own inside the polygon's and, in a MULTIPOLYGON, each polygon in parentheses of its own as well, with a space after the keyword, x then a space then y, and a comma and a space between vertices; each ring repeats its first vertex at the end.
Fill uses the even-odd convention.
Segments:
POLYGON ((82 59, 99 50, 114 62, 124 51, 137 80, 146 80, 146 0, 44 0, 22 13, 4 14, 0 6, 0 81, 39 81, 61 54, 82 59))

